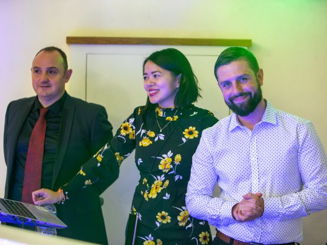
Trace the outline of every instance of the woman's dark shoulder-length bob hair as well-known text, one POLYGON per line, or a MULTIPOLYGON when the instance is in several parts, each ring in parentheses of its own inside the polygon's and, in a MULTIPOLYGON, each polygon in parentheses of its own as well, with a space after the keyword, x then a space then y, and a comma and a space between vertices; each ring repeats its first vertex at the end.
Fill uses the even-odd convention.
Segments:
MULTIPOLYGON (((180 76, 179 88, 175 97, 175 107, 189 106, 196 102, 200 95, 200 88, 198 86, 198 79, 194 75, 192 67, 188 59, 180 51, 175 48, 166 48, 152 53, 143 62, 143 72, 145 64, 152 61, 162 69, 169 70, 174 76, 180 76)), ((145 110, 153 108, 149 97, 147 97, 147 104, 145 110)))

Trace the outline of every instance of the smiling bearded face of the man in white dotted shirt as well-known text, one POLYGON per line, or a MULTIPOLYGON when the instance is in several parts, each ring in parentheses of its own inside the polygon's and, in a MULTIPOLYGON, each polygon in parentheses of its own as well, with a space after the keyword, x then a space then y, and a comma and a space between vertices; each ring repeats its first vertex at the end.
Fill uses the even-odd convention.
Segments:
POLYGON ((239 116, 247 116, 262 100, 263 71, 254 74, 247 61, 237 60, 217 69, 218 85, 226 105, 239 116))

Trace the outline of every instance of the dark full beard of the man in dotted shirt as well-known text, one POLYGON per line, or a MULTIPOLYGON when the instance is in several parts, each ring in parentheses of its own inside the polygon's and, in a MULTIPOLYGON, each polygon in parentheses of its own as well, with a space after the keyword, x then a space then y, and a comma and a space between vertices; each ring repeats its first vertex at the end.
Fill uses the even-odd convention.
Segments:
POLYGON ((228 102, 225 101, 226 105, 229 107, 230 110, 232 110, 235 114, 239 116, 247 116, 250 113, 254 111, 256 106, 259 105, 259 103, 262 100, 262 90, 260 85, 258 84, 258 89, 253 93, 251 92, 242 92, 237 95, 234 95, 228 99, 228 102), (236 105, 233 100, 240 96, 247 95, 249 99, 242 104, 236 105))

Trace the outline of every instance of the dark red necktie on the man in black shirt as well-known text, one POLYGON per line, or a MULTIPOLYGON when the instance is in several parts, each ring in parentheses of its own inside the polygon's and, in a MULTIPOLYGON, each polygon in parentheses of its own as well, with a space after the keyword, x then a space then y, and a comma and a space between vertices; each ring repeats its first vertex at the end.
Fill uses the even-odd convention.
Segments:
POLYGON ((46 129, 44 117, 46 112, 48 112, 48 108, 40 109, 40 116, 36 121, 29 142, 21 195, 21 201, 24 203, 34 204, 32 200, 32 191, 41 188, 42 160, 46 129))

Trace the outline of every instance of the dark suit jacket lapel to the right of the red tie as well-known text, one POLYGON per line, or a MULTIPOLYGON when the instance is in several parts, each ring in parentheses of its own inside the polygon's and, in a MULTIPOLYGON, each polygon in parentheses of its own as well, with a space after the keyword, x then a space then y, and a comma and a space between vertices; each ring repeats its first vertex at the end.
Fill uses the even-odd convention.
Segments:
POLYGON ((67 94, 62 108, 62 115, 60 121, 60 129, 59 129, 59 139, 58 139, 58 150, 57 150, 56 161, 54 164, 54 171, 52 177, 52 188, 56 183, 61 165, 65 157, 67 145, 69 142, 69 137, 71 136, 74 113, 75 113, 74 101, 72 97, 69 96, 69 94, 67 94))

